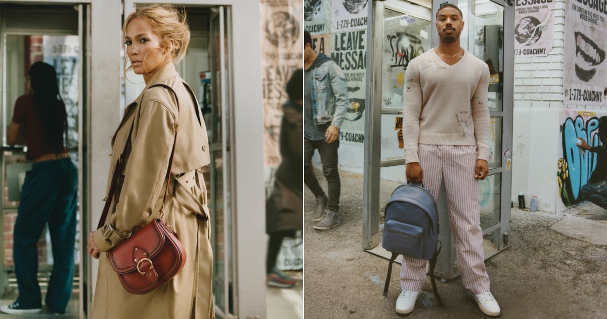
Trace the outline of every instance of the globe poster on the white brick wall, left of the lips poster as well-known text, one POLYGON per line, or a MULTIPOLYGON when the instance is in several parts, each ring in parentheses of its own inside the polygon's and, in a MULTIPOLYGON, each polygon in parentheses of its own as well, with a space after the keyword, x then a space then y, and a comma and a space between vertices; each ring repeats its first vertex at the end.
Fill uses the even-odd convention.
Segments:
POLYGON ((514 55, 546 57, 554 39, 554 0, 517 0, 514 55))

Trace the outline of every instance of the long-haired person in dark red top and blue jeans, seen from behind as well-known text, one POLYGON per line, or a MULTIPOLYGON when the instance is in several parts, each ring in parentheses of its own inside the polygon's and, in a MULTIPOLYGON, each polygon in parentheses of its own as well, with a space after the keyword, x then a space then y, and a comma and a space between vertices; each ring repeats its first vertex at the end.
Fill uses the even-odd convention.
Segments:
POLYGON ((28 88, 15 103, 7 143, 15 145, 20 132, 25 137, 32 170, 25 176, 21 202, 13 230, 13 260, 19 296, 0 307, 7 314, 36 314, 42 310, 38 284, 38 239, 49 224, 53 271, 46 294, 49 312, 64 314, 72 295, 78 170, 63 141, 66 106, 61 100, 55 69, 36 62, 29 70, 28 88))

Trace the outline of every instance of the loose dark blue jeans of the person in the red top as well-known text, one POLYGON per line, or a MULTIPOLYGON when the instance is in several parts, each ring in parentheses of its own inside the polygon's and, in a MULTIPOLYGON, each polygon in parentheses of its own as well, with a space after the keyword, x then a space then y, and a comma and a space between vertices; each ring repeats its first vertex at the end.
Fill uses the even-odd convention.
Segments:
POLYGON ((38 285, 38 239, 49 224, 53 272, 46 304, 63 314, 72 296, 74 244, 78 205, 78 170, 72 160, 34 163, 21 191, 21 204, 13 232, 13 259, 22 307, 41 307, 38 285))

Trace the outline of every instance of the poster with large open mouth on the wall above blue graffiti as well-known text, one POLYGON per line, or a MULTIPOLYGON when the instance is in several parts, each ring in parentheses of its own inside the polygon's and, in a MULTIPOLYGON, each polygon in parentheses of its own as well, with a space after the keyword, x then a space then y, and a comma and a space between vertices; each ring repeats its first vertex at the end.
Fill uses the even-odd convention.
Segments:
POLYGON ((607 8, 599 0, 566 2, 563 103, 607 106, 607 8))

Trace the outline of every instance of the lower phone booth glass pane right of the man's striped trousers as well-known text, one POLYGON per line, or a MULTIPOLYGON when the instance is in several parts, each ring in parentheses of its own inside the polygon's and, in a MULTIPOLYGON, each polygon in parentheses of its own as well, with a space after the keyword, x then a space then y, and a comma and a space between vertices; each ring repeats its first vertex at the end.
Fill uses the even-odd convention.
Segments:
POLYGON ((479 180, 481 204, 481 228, 486 229, 500 222, 501 174, 479 180))

